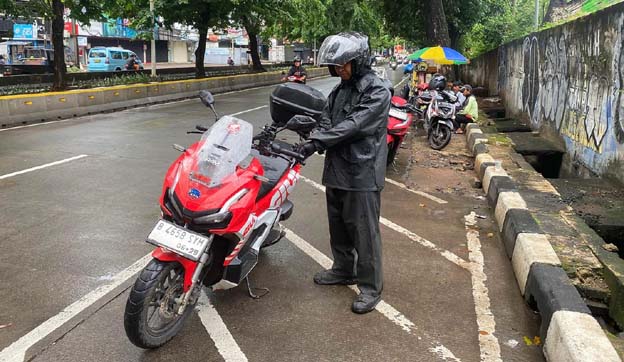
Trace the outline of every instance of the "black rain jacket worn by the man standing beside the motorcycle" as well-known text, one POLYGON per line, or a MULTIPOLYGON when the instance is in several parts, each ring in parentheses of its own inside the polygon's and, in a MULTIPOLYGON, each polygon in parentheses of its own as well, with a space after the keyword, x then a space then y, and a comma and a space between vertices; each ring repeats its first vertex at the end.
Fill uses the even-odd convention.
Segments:
POLYGON ((326 150, 323 184, 348 191, 380 191, 386 174, 390 91, 372 71, 342 81, 330 93, 309 139, 326 150))

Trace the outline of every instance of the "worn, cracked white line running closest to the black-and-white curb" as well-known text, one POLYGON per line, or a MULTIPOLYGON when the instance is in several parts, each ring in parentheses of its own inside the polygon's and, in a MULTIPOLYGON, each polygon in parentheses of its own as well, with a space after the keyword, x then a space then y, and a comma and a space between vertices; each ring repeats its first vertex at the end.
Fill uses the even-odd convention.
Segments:
POLYGON ((487 276, 483 271, 484 258, 481 252, 481 241, 477 225, 477 214, 472 211, 464 216, 466 225, 466 239, 468 239, 468 257, 471 261, 470 274, 472 276, 472 297, 475 302, 477 326, 479 327, 479 349, 481 361, 502 362, 498 338, 494 335, 496 321, 490 310, 490 297, 485 281, 487 276))

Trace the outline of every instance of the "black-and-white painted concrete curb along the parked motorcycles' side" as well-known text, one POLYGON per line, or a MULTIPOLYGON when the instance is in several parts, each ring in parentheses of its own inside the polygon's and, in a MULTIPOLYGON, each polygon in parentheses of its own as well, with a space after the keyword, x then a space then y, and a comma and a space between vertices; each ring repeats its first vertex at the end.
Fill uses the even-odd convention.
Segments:
POLYGON ((488 139, 477 124, 466 127, 475 172, 495 209, 505 251, 518 288, 541 317, 544 356, 551 362, 616 362, 621 359, 570 282, 548 236, 541 230, 502 161, 488 154, 488 139))

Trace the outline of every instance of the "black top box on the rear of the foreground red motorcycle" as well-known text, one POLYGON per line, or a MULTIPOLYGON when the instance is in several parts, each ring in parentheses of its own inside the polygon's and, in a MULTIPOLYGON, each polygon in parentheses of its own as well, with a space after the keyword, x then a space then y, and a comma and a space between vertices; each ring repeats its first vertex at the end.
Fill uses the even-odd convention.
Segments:
POLYGON ((317 89, 301 83, 280 84, 271 93, 271 118, 278 127, 295 115, 310 116, 320 121, 327 99, 317 89))

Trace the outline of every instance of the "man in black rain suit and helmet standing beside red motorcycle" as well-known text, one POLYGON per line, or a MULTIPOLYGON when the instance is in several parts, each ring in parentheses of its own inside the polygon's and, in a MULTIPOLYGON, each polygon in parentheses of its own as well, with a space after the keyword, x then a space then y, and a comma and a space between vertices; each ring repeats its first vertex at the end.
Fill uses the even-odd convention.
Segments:
POLYGON ((341 82, 328 97, 321 130, 299 151, 325 150, 329 234, 334 264, 314 276, 320 285, 357 284, 351 310, 372 311, 381 300, 380 192, 386 173, 390 91, 370 68, 368 38, 340 33, 325 39, 319 64, 341 82))

